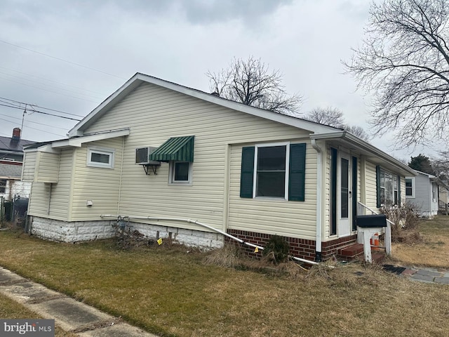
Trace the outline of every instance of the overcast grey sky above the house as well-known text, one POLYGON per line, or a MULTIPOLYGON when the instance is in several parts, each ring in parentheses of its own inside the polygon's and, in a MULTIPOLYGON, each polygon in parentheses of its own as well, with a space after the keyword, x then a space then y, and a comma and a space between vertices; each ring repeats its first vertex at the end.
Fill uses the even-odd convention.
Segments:
MULTIPOLYGON (((234 57, 260 58, 283 73, 302 113, 336 107, 368 129, 370 100, 344 74, 363 40, 368 0, 1 0, 0 136, 20 127, 25 105, 80 119, 136 72, 209 92, 206 72, 234 57), (48 110, 51 109, 51 110, 48 110), (59 112, 53 111, 59 110, 59 112), (65 112, 65 114, 62 114, 65 112)), ((22 138, 65 138, 76 124, 27 107, 22 138)), ((389 137, 371 143, 395 157, 389 137)))

